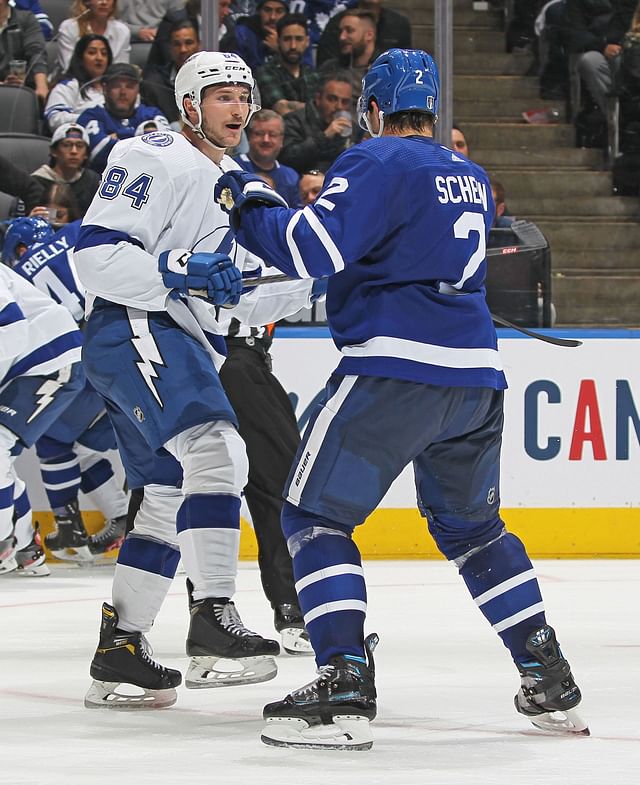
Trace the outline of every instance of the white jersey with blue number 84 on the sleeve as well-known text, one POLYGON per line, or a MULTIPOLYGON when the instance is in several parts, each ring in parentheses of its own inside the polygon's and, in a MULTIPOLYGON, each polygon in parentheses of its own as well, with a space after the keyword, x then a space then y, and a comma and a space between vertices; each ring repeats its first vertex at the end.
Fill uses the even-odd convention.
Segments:
MULTIPOLYGON (((226 253, 245 275, 261 274, 263 262, 236 243, 228 214, 213 198, 222 172, 239 168, 227 156, 217 166, 179 133, 154 131, 119 142, 75 248, 88 312, 100 297, 167 311, 205 346, 203 333, 222 334, 219 309, 196 297, 176 299, 165 286, 158 256, 171 250, 226 253)), ((222 310, 227 319, 258 327, 308 306, 310 296, 309 280, 276 283, 257 287, 234 308, 222 310)))

